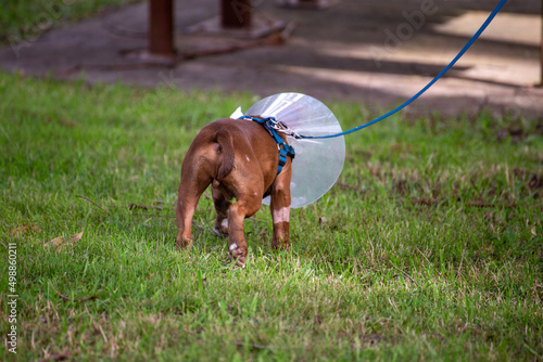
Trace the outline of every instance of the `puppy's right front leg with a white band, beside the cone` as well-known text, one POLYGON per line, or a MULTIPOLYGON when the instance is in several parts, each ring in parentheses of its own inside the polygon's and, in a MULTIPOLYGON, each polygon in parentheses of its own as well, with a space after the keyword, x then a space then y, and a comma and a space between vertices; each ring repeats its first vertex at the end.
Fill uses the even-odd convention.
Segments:
POLYGON ((273 248, 289 249, 289 219, 290 219, 290 179, 292 168, 290 161, 279 173, 272 188, 272 220, 274 222, 273 248))

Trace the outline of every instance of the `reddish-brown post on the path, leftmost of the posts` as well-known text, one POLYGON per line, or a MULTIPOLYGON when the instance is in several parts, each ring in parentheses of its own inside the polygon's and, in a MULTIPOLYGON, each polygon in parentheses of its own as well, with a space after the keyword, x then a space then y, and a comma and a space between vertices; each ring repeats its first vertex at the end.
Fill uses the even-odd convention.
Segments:
POLYGON ((149 0, 149 53, 174 54, 173 0, 149 0))

